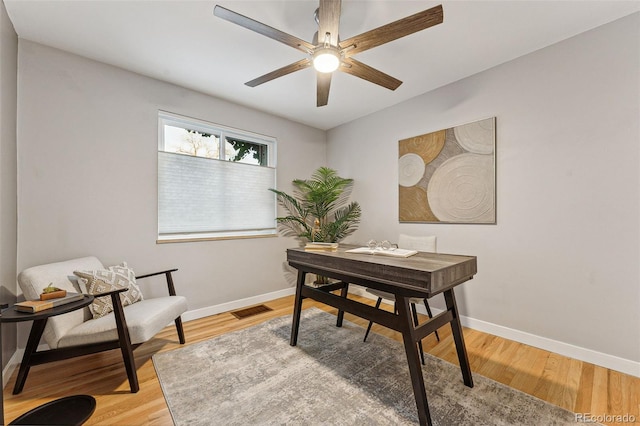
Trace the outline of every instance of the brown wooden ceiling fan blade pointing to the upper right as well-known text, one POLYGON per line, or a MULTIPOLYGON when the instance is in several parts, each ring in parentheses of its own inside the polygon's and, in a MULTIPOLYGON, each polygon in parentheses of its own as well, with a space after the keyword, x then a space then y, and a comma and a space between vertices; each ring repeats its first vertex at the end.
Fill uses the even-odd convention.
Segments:
POLYGON ((345 57, 349 57, 434 25, 441 24, 443 19, 442 5, 435 6, 431 9, 423 10, 406 18, 343 40, 340 42, 340 49, 343 49, 345 57))

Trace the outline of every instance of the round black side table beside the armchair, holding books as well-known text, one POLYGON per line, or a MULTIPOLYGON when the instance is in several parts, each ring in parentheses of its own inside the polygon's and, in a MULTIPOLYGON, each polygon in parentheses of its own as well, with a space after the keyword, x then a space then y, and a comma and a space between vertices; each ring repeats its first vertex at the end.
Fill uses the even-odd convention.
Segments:
MULTIPOLYGON (((76 309, 82 309, 93 301, 93 296, 85 295, 82 300, 76 302, 67 303, 55 308, 46 309, 44 311, 36 312, 33 314, 18 312, 10 306, 0 314, 0 323, 5 322, 22 322, 33 321, 31 325, 31 331, 29 333, 29 340, 25 348, 25 357, 33 353, 40 337, 44 331, 44 327, 47 325, 47 319, 56 315, 66 314, 67 312, 75 311, 76 309)), ((2 344, 2 331, 0 327, 0 345, 2 344)), ((0 357, 2 351, 0 348, 0 357)), ((0 358, 1 361, 1 358, 0 358)), ((0 362, 0 366, 2 363, 0 362)), ((25 367, 28 363, 25 363, 23 357, 18 372, 18 381, 21 376, 26 375, 29 372, 29 367, 25 367)), ((2 383, 2 370, 0 368, 0 383, 2 383)), ((14 392, 15 393, 15 392, 14 392)), ((4 397, 0 398, 0 424, 4 425, 4 397)), ((9 423, 10 425, 81 425, 91 417, 96 408, 96 400, 90 395, 73 395, 65 398, 60 398, 54 401, 47 402, 39 407, 36 407, 17 419, 9 423)))

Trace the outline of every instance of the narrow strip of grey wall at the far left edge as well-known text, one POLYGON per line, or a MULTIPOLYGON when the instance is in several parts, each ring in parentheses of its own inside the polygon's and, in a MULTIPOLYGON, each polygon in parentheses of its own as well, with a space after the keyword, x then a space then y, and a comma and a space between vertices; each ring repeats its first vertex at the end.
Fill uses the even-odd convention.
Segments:
MULTIPOLYGON (((16 295, 16 108, 18 36, 0 2, 0 303, 16 295)), ((2 326, 2 366, 16 349, 16 326, 2 326)))

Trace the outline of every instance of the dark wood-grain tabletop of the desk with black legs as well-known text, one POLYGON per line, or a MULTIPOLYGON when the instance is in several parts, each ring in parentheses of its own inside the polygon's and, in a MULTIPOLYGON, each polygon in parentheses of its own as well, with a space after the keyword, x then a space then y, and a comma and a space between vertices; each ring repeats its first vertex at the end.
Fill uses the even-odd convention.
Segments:
MULTIPOLYGON (((337 251, 326 252, 288 249, 287 261, 294 267, 311 272, 325 271, 327 276, 347 274, 354 278, 419 290, 429 295, 467 281, 477 273, 476 256, 418 252, 403 258, 346 253, 356 247, 340 244, 337 251)), ((355 280, 353 282, 358 283, 355 280)))

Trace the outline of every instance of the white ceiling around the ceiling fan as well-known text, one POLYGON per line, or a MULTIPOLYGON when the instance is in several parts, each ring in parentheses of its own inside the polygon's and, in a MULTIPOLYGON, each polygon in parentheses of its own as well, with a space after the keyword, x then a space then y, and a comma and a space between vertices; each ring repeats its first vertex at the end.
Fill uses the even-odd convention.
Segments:
MULTIPOLYGON (((4 0, 18 36, 330 129, 640 10, 640 1, 343 0, 340 38, 438 4, 444 23, 356 55, 404 83, 390 91, 334 75, 317 108, 311 68, 255 77, 304 54, 213 15, 220 4, 311 42, 317 0, 4 0)), ((612 46, 615 48, 615 46, 612 46)))

